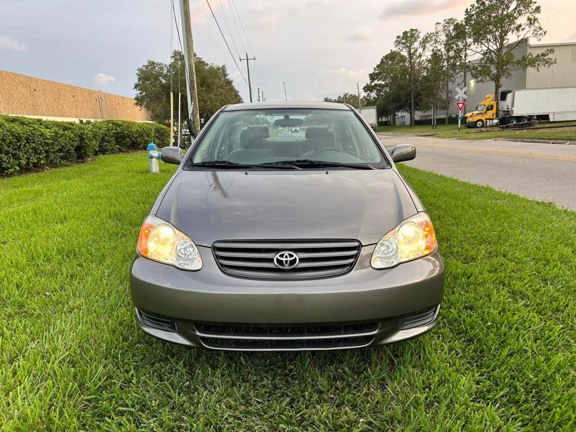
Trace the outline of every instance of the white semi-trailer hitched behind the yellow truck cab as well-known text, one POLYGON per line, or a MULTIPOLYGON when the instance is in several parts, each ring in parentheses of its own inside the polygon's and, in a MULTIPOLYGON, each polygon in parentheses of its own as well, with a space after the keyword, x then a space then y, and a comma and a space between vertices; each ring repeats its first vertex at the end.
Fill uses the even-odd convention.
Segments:
POLYGON ((576 120, 576 87, 503 90, 498 108, 501 124, 576 120))

